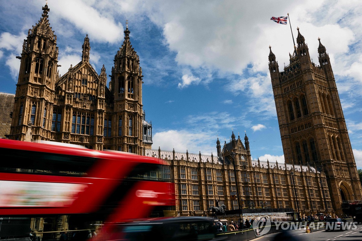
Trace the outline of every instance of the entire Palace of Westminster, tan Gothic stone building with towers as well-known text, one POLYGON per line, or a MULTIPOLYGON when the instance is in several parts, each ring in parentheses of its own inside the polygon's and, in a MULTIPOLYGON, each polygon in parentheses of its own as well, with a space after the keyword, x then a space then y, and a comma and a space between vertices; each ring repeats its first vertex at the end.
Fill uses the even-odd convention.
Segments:
POLYGON ((236 191, 244 208, 293 208, 300 215, 340 215, 342 201, 362 199, 336 82, 320 39, 318 66, 310 60, 299 29, 295 51, 283 71, 269 47, 285 163, 263 162, 251 159, 246 134, 240 138, 232 133, 228 143, 217 139, 216 155, 151 149, 152 125, 145 121, 142 104, 142 68, 128 26, 107 86, 104 66, 98 74, 89 63, 88 35, 81 62, 59 75, 59 50, 49 10, 43 7, 41 19, 29 29, 17 57, 21 65, 16 94, 0 94, 4 110, 0 137, 164 159, 170 164, 165 172, 175 183, 175 214, 180 216, 210 215, 207 210, 215 206, 215 200, 236 210, 238 202, 231 198, 236 191))

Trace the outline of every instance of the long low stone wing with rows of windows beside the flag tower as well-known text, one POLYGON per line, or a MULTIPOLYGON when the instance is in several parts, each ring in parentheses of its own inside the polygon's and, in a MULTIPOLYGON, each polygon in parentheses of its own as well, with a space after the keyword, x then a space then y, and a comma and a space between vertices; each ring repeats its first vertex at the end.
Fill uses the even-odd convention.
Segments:
POLYGON ((244 200, 244 208, 294 208, 295 212, 299 209, 300 215, 335 213, 325 174, 315 167, 252 160, 246 134, 244 144, 239 136, 236 138, 232 133, 231 142, 225 142, 221 148, 218 139, 216 149, 217 156, 188 151, 146 150, 147 156, 164 159, 170 164, 164 173, 175 183, 176 214, 209 215, 205 211, 215 206, 215 201, 219 199, 220 205, 236 210, 237 200, 231 198, 231 192, 236 191, 244 200), (235 153, 237 186, 232 152, 235 153))

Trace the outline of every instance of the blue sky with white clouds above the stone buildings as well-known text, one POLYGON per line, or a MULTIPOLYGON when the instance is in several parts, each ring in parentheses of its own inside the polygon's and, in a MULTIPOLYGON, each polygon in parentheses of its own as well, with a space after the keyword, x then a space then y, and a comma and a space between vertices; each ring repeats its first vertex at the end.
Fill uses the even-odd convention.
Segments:
MULTIPOLYGON (((0 2, 0 92, 15 93, 23 39, 41 18, 43 0, 0 2)), ((216 138, 246 131, 253 159, 283 162, 268 69, 269 45, 279 67, 289 63, 290 14, 317 63, 327 48, 357 167, 362 168, 362 2, 49 0, 61 75, 81 60, 86 34, 90 63, 107 74, 121 47, 125 21, 143 70, 143 105, 153 149, 216 153, 216 138)), ((109 81, 109 79, 108 79, 109 81)))

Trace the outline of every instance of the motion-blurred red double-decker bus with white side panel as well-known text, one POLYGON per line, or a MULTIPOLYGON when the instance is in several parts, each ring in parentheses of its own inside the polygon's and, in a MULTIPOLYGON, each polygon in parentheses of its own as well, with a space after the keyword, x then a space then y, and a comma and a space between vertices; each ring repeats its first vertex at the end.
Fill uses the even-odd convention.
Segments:
POLYGON ((160 159, 64 143, 0 139, 0 216, 120 222, 174 210, 160 159))

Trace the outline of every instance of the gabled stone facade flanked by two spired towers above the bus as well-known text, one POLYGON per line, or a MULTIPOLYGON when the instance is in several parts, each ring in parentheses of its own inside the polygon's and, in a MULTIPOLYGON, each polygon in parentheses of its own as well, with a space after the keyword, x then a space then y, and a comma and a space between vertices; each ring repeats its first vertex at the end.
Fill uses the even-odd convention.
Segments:
POLYGON ((89 63, 88 35, 81 62, 59 75, 59 50, 48 20, 49 10, 47 5, 43 7, 40 21, 29 29, 24 40, 8 137, 142 155, 145 148, 151 148, 152 125, 144 120, 142 69, 130 43, 128 26, 107 87, 104 65, 98 75, 89 63), (31 137, 26 136, 29 123, 31 137))

